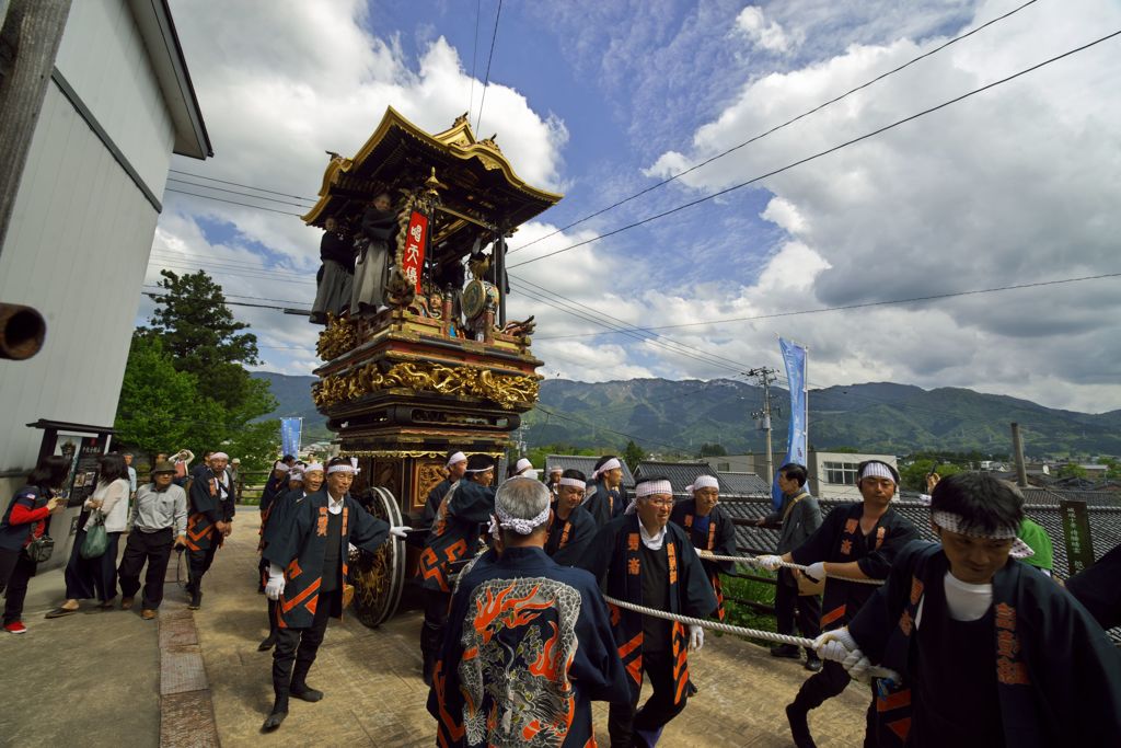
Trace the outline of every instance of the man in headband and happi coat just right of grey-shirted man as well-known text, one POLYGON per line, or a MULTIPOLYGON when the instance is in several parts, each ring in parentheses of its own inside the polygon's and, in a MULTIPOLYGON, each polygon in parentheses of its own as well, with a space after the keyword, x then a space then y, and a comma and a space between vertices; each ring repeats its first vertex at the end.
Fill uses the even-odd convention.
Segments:
POLYGON ((203 600, 203 576, 214 563, 222 542, 233 529, 233 491, 225 472, 230 458, 214 452, 210 460, 191 473, 187 495, 187 593, 191 610, 198 610, 203 600))

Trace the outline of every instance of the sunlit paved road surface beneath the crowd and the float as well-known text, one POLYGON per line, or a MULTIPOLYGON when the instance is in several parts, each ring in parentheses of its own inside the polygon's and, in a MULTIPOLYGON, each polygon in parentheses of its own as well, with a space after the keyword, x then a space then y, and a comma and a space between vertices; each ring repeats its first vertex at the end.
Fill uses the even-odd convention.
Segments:
MULTIPOLYGON (((365 628, 354 617, 332 620, 308 677, 326 696, 315 704, 293 700, 276 733, 259 732, 272 703, 272 658, 257 652, 268 624, 265 597, 257 593, 256 517, 253 507, 239 510, 237 530, 206 576, 202 610, 192 616, 182 591, 168 584, 159 629, 136 612, 91 611, 44 620, 43 613, 62 600, 62 571, 34 579, 25 618, 30 632, 0 634, 0 662, 8 683, 18 684, 35 707, 22 708, 10 699, 0 704, 0 746, 205 746, 215 745, 210 732, 215 724, 228 748, 433 746, 435 723, 425 709, 428 690, 419 669, 421 613, 408 591, 398 615, 378 629, 365 628), (189 663, 176 668, 167 662, 197 653, 205 665, 204 682, 189 663), (52 701, 53 707, 41 707, 52 701), (183 718, 195 727, 175 727, 183 718)), ((172 576, 174 562, 173 556, 172 576)), ((791 745, 782 710, 807 675, 798 663, 710 632, 705 648, 691 658, 691 668, 701 693, 669 724, 660 745, 791 745)), ((868 700, 867 687, 853 684, 813 712, 817 745, 861 745, 868 700)), ((603 746, 606 711, 605 704, 595 705, 603 746)))

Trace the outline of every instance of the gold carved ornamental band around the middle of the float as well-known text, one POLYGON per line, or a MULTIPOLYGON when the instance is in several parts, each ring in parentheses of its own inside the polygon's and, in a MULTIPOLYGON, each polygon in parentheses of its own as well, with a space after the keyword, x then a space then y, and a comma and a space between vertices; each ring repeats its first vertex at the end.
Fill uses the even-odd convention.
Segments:
POLYGON ((536 376, 497 375, 487 369, 446 367, 441 363, 404 361, 382 373, 377 363, 368 363, 346 373, 324 378, 313 389, 318 407, 330 407, 358 399, 379 389, 402 388, 417 393, 462 395, 497 403, 504 410, 537 401, 536 376))

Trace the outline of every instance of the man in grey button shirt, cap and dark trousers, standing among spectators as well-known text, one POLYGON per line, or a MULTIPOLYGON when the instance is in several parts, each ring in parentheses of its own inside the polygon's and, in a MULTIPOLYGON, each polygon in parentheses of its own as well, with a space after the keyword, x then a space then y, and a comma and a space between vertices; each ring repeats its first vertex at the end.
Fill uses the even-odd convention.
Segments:
POLYGON ((117 570, 121 581, 121 610, 129 610, 140 589, 140 571, 145 563, 148 564, 140 607, 140 617, 145 620, 155 618, 164 601, 164 576, 173 544, 180 548, 187 543, 187 495, 172 482, 174 478, 174 463, 157 462, 151 482, 137 490, 129 512, 132 532, 117 570))

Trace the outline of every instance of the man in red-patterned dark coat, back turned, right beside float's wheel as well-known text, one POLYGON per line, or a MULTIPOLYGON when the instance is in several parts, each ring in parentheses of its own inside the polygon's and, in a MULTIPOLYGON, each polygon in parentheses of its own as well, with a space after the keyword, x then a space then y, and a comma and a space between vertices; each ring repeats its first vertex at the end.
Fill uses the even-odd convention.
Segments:
POLYGON ((467 561, 479 550, 487 524, 494 511, 494 460, 472 454, 466 478, 447 492, 433 520, 420 554, 420 585, 425 591, 424 626, 420 628, 423 677, 432 685, 432 668, 439 655, 452 598, 452 565, 467 561))

